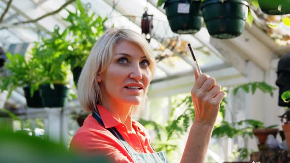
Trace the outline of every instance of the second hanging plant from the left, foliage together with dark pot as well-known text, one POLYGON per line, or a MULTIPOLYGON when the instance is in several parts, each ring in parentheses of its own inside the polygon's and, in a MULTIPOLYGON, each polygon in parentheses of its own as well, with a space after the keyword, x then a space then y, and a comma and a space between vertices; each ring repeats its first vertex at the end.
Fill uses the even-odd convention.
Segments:
POLYGON ((41 66, 37 75, 42 78, 39 91, 45 107, 63 107, 68 96, 70 67, 64 61, 69 47, 66 36, 67 30, 59 32, 56 27, 51 38, 43 38, 32 49, 32 57, 41 66))

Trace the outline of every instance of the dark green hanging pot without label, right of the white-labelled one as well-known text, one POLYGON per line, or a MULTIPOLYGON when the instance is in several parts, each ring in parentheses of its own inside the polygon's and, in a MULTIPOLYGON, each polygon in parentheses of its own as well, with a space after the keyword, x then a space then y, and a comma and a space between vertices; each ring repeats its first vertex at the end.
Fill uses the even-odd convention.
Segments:
POLYGON ((201 10, 208 33, 219 39, 234 38, 242 34, 248 6, 247 0, 205 0, 201 10))

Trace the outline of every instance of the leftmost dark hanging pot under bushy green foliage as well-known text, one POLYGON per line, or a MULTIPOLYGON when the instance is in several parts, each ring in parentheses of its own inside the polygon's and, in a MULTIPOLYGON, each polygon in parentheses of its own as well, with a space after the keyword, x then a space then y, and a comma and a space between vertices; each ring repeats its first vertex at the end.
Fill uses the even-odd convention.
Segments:
POLYGON ((33 96, 30 96, 30 87, 24 87, 24 95, 26 98, 26 103, 29 108, 43 108, 43 103, 40 97, 39 90, 34 90, 33 96))

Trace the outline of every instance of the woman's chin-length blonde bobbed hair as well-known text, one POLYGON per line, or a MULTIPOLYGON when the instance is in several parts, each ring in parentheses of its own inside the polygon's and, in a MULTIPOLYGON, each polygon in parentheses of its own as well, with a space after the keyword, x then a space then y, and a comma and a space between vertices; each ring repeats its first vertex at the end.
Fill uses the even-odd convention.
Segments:
MULTIPOLYGON (((104 72, 111 64, 114 56, 114 47, 121 40, 134 42, 140 46, 147 58, 150 60, 149 69, 152 76, 154 75, 156 64, 155 58, 152 55, 148 42, 142 35, 130 29, 107 29, 95 43, 88 55, 77 84, 78 100, 83 108, 89 112, 96 109, 96 105, 101 104, 102 102, 101 89, 96 81, 96 77, 98 73, 104 72)), ((143 99, 142 105, 144 105, 144 103, 145 98, 143 99)), ((138 106, 134 106, 134 108, 138 108, 138 106)))

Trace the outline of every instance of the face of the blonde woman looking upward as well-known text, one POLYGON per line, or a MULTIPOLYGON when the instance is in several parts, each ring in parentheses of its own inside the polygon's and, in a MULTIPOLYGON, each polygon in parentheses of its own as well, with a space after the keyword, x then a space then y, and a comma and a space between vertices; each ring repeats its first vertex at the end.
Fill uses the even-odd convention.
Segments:
POLYGON ((99 74, 102 99, 139 105, 152 79, 149 64, 137 44, 125 40, 117 43, 112 63, 99 74))

